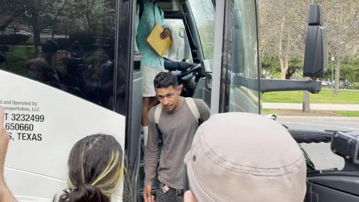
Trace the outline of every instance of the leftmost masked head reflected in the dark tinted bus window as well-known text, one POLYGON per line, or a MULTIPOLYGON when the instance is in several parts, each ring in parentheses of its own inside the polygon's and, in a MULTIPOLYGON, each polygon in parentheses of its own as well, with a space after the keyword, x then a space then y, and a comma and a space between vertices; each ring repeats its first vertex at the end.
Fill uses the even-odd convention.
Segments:
POLYGON ((38 81, 43 81, 49 71, 47 61, 41 58, 35 58, 27 61, 26 67, 28 70, 28 76, 38 81))

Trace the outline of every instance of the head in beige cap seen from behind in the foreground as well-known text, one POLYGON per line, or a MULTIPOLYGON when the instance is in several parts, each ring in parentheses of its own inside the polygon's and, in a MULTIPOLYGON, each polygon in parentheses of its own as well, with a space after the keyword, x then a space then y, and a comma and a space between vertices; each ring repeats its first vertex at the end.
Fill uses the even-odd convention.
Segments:
POLYGON ((303 202, 306 161, 278 121, 251 113, 212 115, 185 157, 185 202, 303 202))

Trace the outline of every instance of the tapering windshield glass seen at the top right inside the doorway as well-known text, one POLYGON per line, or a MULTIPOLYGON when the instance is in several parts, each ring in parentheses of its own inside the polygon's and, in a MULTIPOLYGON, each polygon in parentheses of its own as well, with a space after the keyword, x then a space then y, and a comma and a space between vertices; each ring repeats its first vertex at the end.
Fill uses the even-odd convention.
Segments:
POLYGON ((215 10, 211 0, 190 0, 192 14, 200 35, 204 59, 209 60, 212 69, 214 49, 215 10))

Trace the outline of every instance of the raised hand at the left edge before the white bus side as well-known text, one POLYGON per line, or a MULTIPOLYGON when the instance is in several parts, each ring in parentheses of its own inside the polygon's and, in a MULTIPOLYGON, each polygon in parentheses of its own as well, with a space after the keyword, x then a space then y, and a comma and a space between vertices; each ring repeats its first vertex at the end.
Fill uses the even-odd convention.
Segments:
POLYGON ((6 152, 10 141, 9 133, 4 128, 4 111, 0 107, 0 178, 4 175, 6 152))

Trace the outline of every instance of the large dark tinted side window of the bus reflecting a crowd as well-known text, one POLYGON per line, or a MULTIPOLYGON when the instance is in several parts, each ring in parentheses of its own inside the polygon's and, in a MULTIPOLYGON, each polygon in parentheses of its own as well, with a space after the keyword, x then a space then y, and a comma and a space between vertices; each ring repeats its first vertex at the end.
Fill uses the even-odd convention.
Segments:
MULTIPOLYGON (((29 15, 25 20, 13 20, 8 28, 16 31, 31 26, 29 34, 1 36, 6 70, 112 109, 116 1, 86 4, 64 1, 50 10, 39 8, 36 22, 30 11, 23 14, 29 15), (52 14, 45 16, 41 9, 52 14), (44 21, 55 14, 57 20, 44 21)), ((17 14, 17 4, 8 2, 2 6, 9 12, 1 13, 1 18, 17 14)))

